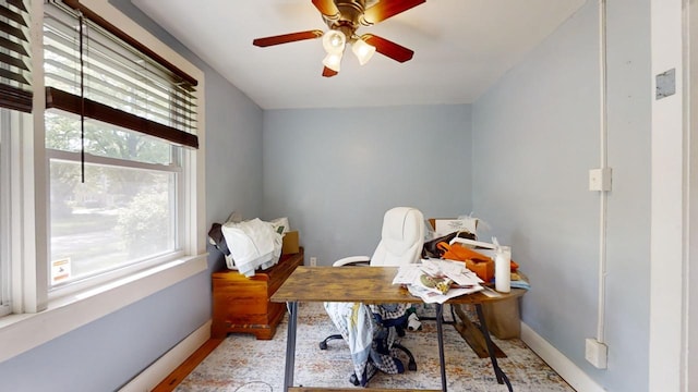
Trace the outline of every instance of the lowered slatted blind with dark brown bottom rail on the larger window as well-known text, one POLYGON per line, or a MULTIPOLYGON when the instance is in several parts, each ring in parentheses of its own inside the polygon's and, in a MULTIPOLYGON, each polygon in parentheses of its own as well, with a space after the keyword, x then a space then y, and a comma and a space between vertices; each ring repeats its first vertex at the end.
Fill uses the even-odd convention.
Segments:
POLYGON ((46 4, 47 108, 197 148, 196 81, 109 27, 77 1, 46 4))

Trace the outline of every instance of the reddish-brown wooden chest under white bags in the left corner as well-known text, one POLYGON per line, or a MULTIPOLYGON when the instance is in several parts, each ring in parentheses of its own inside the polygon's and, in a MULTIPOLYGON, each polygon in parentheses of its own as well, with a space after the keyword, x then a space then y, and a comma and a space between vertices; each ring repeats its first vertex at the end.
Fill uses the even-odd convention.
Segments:
POLYGON ((272 303, 269 297, 302 265, 301 247, 297 254, 282 255, 276 266, 257 270, 252 278, 231 270, 214 272, 212 338, 225 338, 228 332, 252 333, 262 340, 274 338, 286 304, 272 303))

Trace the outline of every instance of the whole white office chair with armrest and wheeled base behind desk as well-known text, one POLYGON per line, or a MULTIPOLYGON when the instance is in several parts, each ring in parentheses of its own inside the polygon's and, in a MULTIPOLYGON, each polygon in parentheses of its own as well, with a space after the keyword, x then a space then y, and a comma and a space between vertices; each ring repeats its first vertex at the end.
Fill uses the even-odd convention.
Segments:
MULTIPOLYGON (((376 247, 371 258, 366 256, 353 256, 346 257, 333 264, 334 267, 365 265, 370 267, 397 267, 406 264, 419 262, 422 255, 422 246, 424 245, 424 216, 422 212, 414 208, 409 207, 396 207, 385 212, 383 217, 383 230, 381 235, 381 242, 376 247)), ((326 304, 325 308, 330 313, 333 306, 339 304, 326 304)), ((401 304, 400 304, 401 305, 401 304)), ((385 328, 395 328, 395 332, 398 335, 405 335, 405 331, 401 326, 407 320, 408 314, 405 310, 409 308, 408 305, 393 306, 381 309, 382 316, 389 315, 385 319, 381 319, 381 326, 385 328)), ((345 308, 346 310, 346 308, 345 308)), ((365 310, 368 311, 368 310, 365 310)), ((370 311, 369 311, 370 313, 370 311)), ((335 324, 347 334, 345 329, 346 319, 340 318, 337 315, 330 313, 330 317, 335 324)), ((351 335, 351 334, 349 334, 351 335)), ((335 339, 342 339, 341 334, 333 334, 327 336, 320 343, 321 350, 327 348, 327 342, 335 339)), ((352 343, 350 342, 350 345, 352 343)), ((414 357, 409 350, 402 345, 389 340, 389 347, 394 347, 402 351, 409 358, 408 369, 417 370, 417 364, 414 357)), ((353 354, 353 353, 352 353, 353 354)), ((352 355, 353 356, 353 355, 352 355)), ((360 367, 354 362, 354 367, 360 367)), ((401 366, 401 363, 400 363, 401 366)), ((401 371, 396 371, 401 372, 401 371)), ((369 377, 370 378, 370 377, 369 377)), ((365 385, 368 379, 361 377, 361 375, 353 375, 350 381, 358 385, 362 383, 365 385), (361 381, 360 381, 361 380, 361 381)))

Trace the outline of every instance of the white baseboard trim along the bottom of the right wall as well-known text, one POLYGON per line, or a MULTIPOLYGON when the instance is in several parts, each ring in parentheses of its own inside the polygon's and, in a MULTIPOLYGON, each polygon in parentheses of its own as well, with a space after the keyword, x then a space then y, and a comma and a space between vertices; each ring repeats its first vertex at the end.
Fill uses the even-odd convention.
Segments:
POLYGON ((580 392, 604 392, 595 381, 583 372, 575 363, 557 351, 545 339, 535 333, 529 326, 521 322, 521 341, 526 343, 538 356, 555 370, 559 377, 580 392))

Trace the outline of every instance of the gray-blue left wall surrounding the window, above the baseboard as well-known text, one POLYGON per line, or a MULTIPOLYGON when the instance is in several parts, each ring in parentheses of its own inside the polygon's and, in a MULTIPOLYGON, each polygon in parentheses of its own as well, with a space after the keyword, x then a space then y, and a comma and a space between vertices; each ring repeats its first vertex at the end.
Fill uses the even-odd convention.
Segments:
MULTIPOLYGON (((129 0, 111 3, 205 72, 208 226, 232 210, 260 215, 262 110, 129 0)), ((210 272, 224 260, 208 252, 207 272, 0 363, 0 390, 112 391, 129 382, 210 319, 210 272)))

